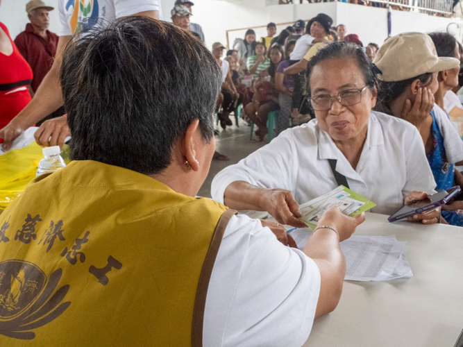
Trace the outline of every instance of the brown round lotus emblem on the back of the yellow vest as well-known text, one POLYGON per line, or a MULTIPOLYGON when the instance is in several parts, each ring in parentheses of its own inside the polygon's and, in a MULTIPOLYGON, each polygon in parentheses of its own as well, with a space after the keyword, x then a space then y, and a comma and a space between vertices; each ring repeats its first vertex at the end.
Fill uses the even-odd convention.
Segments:
POLYGON ((44 271, 24 260, 0 262, 0 335, 33 339, 39 328, 65 312, 71 302, 61 303, 69 285, 55 291, 62 270, 47 280, 44 271))

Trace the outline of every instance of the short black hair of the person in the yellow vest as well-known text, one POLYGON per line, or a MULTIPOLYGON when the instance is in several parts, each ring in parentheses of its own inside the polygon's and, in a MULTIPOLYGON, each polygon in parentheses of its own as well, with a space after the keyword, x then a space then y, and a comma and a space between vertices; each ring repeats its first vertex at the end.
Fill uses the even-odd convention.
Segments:
POLYGON ((167 22, 122 17, 74 37, 60 79, 73 160, 157 174, 194 119, 205 142, 214 136, 221 70, 199 40, 167 22))

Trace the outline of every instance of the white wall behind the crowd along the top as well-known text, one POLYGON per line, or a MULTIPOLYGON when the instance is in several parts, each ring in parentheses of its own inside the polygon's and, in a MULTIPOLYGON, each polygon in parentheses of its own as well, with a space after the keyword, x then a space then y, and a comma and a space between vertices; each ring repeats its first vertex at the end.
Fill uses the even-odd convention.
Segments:
MULTIPOLYGON (((350 3, 326 2, 304 3, 303 5, 266 6, 269 0, 193 0, 192 22, 201 24, 208 47, 214 42, 226 44, 226 30, 266 26, 269 22, 295 22, 308 20, 318 13, 330 15, 334 24, 345 24, 348 33, 356 33, 364 43, 381 44, 387 38, 387 10, 350 3)), ((14 39, 24 31, 28 23, 26 3, 28 0, 1 0, 0 22, 3 22, 14 39)), ((58 7, 58 0, 45 0, 47 4, 58 7)), ((175 0, 161 0, 165 20, 170 22, 170 11, 175 0)), ((392 11, 392 35, 405 31, 444 31, 452 19, 423 15, 417 12, 392 11)), ((278 33, 287 25, 278 26, 278 33)), ((58 10, 50 12, 50 30, 58 33, 60 28, 58 10)), ((244 37, 246 29, 229 33, 230 45, 235 37, 244 37)), ((266 28, 255 29, 259 37, 266 36, 266 28)))

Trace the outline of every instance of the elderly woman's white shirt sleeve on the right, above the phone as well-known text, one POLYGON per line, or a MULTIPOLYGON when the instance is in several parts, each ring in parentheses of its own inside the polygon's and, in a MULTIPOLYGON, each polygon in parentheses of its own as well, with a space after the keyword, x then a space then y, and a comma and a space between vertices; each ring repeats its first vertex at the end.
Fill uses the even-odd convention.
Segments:
POLYGON ((413 137, 410 139, 410 143, 405 143, 404 149, 407 181, 402 189, 403 199, 405 200, 407 195, 413 191, 434 194, 436 183, 426 158, 423 138, 415 126, 413 126, 413 137))

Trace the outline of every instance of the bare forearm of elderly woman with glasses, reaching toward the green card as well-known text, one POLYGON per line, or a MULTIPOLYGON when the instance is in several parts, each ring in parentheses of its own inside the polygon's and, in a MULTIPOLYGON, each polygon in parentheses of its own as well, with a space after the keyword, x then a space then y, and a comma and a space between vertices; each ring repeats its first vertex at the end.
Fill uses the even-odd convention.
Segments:
POLYGON ((233 210, 263 211, 260 198, 267 189, 256 187, 243 180, 230 183, 224 192, 224 204, 233 210))

